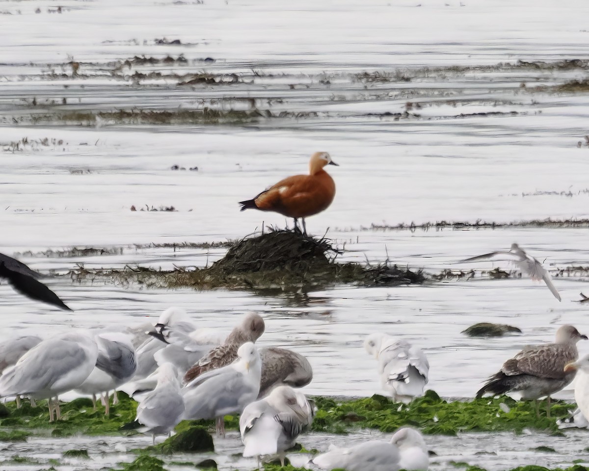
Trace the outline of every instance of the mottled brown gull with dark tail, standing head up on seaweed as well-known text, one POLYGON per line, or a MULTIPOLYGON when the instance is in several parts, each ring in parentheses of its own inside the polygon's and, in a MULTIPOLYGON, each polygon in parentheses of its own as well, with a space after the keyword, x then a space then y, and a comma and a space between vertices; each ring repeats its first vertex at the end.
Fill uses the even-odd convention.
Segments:
POLYGON ((522 399, 534 399, 536 413, 538 399, 547 396, 546 413, 550 417, 550 395, 567 386, 575 377, 575 370, 565 372, 567 363, 578 358, 577 342, 587 340, 573 326, 561 326, 556 331, 556 342, 528 346, 505 361, 498 373, 491 376, 477 392, 477 399, 486 393, 494 395, 521 392, 522 399))

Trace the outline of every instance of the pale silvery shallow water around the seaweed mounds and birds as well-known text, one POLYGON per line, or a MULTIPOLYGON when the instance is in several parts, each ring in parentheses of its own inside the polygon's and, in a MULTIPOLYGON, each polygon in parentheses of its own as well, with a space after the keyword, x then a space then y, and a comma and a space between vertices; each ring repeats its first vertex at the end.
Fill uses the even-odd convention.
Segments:
MULTIPOLYGON (((589 6, 531 0, 462 4, 68 0, 58 13, 49 12, 57 7, 47 1, 3 2, 0 251, 21 254, 43 272, 65 273, 77 264, 206 266, 224 249, 143 246, 226 241, 263 225, 284 225, 279 215, 239 213, 237 201, 285 175, 304 173, 309 155, 327 150, 340 164, 330 168, 336 199, 307 227, 345 248, 342 260, 389 258, 430 273, 488 269, 489 262, 457 262, 517 241, 554 269, 589 265, 586 228, 370 229, 373 223, 587 217, 589 100, 550 88, 582 79, 586 71, 516 64, 586 58, 589 6), (164 37, 182 44, 157 44, 164 37), (124 64, 135 55, 180 54, 186 62, 124 64), (72 60, 80 62, 78 77, 72 77, 72 60), (223 83, 178 85, 203 71, 223 77, 223 83), (134 79, 135 72, 161 77, 134 79), (229 83, 230 74, 239 81, 229 83), (66 125, 58 119, 72 111, 204 106, 298 115, 233 126, 120 125, 108 119, 66 125), (32 114, 53 118, 33 125, 32 114), (198 171, 170 170, 173 165, 198 171), (176 212, 140 211, 171 205, 176 212), (40 254, 72 246, 117 252, 40 254)), ((585 281, 582 274, 558 278, 558 303, 543 285, 517 278, 339 286, 293 297, 58 277, 48 284, 74 313, 31 303, 5 285, 0 310, 7 314, 5 336, 17 329, 45 333, 49 325, 57 331, 139 323, 172 305, 184 307, 200 326, 228 330, 241 313, 259 311, 267 326, 260 343, 309 357, 315 372, 306 388, 310 394, 379 392, 376 364, 362 341, 385 330, 426 351, 428 387, 442 396, 469 397, 524 344, 552 340, 558 324, 589 330, 588 307, 573 302, 585 281), (490 340, 461 334, 483 320, 524 333, 490 340)), ((570 387, 561 395, 571 397, 570 387)), ((511 447, 512 437, 487 440, 498 440, 497 457, 484 459, 473 451, 469 462, 503 469, 530 459, 511 447)), ((57 440, 47 442, 57 446, 57 440)), ((454 445, 443 443, 450 453, 454 445)), ((472 438, 473 449, 479 443, 472 438)), ((574 450, 551 455, 551 466, 570 463, 574 450)))

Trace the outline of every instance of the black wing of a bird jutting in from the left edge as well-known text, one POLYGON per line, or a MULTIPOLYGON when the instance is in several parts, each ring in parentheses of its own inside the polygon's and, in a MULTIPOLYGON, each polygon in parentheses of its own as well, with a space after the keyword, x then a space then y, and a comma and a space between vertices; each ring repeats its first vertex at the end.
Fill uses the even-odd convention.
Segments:
POLYGON ((70 307, 66 306, 57 294, 40 281, 37 281, 36 278, 40 276, 36 271, 31 270, 16 258, 0 254, 0 279, 4 278, 16 291, 35 301, 41 301, 42 303, 57 306, 59 309, 71 311, 70 307))

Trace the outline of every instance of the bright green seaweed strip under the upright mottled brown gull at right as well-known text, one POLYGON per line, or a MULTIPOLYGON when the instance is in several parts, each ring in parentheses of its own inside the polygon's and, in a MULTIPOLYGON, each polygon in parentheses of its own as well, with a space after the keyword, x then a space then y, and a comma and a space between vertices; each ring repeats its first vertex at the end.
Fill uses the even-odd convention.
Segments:
POLYGON ((365 399, 337 401, 315 397, 319 408, 312 425, 316 432, 346 433, 350 427, 379 429, 391 433, 402 426, 418 427, 423 433, 456 435, 459 432, 515 432, 524 429, 558 430, 555 418, 568 415, 570 404, 553 402, 552 419, 537 417, 533 402, 517 402, 510 397, 481 398, 470 402, 446 402, 434 391, 409 404, 394 403, 375 394, 365 399), (501 406, 500 404, 504 404, 501 406), (508 412, 504 412, 507 405, 508 412))

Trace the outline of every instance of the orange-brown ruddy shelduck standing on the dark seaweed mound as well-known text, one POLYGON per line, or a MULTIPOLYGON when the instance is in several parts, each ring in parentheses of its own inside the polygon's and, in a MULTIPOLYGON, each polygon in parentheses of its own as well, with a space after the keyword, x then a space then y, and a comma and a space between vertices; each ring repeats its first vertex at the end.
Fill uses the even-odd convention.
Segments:
POLYGON ((274 211, 292 217, 297 229, 301 218, 303 234, 307 234, 305 218, 326 210, 335 197, 335 183, 323 170, 325 165, 337 164, 327 152, 315 152, 309 161, 309 175, 284 178, 252 200, 240 201, 241 211, 249 208, 274 211))

